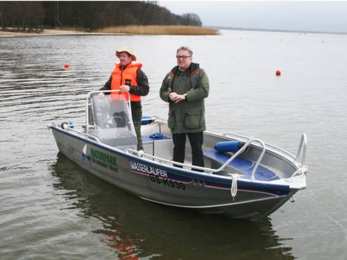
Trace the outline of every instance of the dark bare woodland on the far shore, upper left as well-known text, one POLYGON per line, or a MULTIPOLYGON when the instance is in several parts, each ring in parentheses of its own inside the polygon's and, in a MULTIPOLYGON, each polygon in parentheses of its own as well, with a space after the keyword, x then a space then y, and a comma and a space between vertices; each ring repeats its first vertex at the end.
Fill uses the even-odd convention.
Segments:
POLYGON ((0 1, 1 27, 29 31, 40 26, 86 29, 119 25, 196 25, 194 13, 175 15, 158 1, 0 1))

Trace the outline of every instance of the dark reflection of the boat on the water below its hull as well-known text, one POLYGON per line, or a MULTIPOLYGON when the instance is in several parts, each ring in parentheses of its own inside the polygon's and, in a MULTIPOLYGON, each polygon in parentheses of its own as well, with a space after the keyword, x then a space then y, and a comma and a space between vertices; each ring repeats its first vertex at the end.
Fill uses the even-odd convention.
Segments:
MULTIPOLYGON (((97 179, 64 155, 51 166, 54 188, 81 218, 96 218, 119 259, 294 259, 270 218, 232 220, 140 200, 97 179)), ((87 227, 85 227, 87 228, 87 227)))

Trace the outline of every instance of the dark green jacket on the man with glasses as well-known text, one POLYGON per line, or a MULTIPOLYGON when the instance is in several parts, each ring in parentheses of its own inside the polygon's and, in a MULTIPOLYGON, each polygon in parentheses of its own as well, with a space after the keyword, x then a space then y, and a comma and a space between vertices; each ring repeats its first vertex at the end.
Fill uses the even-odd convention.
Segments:
POLYGON ((174 67, 167 73, 160 88, 160 98, 169 103, 167 124, 173 134, 206 130, 204 98, 208 97, 209 87, 207 74, 196 63, 186 71, 174 67), (186 94, 186 100, 175 104, 169 99, 171 92, 186 94))

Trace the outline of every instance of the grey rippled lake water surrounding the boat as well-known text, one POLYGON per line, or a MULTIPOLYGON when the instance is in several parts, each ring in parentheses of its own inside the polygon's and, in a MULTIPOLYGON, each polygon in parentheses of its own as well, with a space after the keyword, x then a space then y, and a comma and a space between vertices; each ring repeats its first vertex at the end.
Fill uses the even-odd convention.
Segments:
POLYGON ((0 37, 0 259, 346 259, 346 46, 347 35, 252 31, 0 37), (83 123, 85 94, 126 44, 149 77, 144 114, 167 118, 158 92, 187 45, 210 78, 208 130, 295 155, 305 132, 310 172, 296 202, 255 222, 183 211, 58 153, 46 125, 83 123))

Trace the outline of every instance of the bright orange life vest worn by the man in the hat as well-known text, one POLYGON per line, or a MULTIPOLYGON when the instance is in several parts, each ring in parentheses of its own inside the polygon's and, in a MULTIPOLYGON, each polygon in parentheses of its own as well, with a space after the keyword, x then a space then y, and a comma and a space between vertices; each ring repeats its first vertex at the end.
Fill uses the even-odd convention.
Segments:
MULTIPOLYGON (((121 69, 120 63, 116 63, 112 71, 111 89, 118 90, 121 85, 137 86, 137 70, 142 67, 140 62, 131 62, 125 69, 121 69)), ((128 101, 128 93, 114 92, 110 96, 112 99, 121 99, 128 101)), ((130 101, 141 101, 141 96, 130 94, 130 101)))

